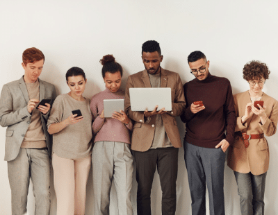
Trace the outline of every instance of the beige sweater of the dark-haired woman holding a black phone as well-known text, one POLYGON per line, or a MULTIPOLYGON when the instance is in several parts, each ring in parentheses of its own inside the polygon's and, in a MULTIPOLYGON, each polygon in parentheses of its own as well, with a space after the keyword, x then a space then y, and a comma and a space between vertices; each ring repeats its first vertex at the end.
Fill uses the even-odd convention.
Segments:
POLYGON ((68 94, 57 96, 52 106, 47 127, 70 117, 72 110, 81 110, 83 120, 69 125, 53 135, 53 153, 59 157, 77 159, 90 155, 92 149, 92 114, 90 100, 77 101, 68 94))

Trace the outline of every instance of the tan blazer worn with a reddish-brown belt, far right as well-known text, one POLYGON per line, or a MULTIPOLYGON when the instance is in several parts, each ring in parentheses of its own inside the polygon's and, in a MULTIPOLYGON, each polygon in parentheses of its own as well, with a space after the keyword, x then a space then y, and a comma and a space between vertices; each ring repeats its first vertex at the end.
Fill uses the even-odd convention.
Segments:
POLYGON ((253 114, 245 123, 241 123, 241 117, 245 114, 247 103, 251 102, 248 91, 234 95, 236 107, 236 135, 234 146, 229 148, 228 166, 239 173, 251 173, 261 175, 268 171, 269 149, 268 141, 263 139, 250 139, 250 144, 245 148, 243 140, 240 138, 241 132, 247 132, 247 135, 264 134, 272 136, 277 130, 278 120, 278 102, 275 98, 263 93, 261 101, 266 106, 265 113, 268 116, 267 121, 262 125, 260 117, 253 114))

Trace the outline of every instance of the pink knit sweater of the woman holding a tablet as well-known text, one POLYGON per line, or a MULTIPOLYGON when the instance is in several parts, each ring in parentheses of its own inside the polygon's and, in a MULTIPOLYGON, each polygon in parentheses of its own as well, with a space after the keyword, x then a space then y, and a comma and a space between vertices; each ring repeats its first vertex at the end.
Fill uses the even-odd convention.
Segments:
POLYGON ((133 129, 132 122, 126 125, 117 119, 104 118, 99 115, 104 110, 104 99, 123 99, 124 91, 121 89, 118 92, 110 92, 109 89, 92 96, 90 109, 92 112, 92 133, 95 135, 95 141, 117 141, 126 144, 131 144, 130 131, 133 129))

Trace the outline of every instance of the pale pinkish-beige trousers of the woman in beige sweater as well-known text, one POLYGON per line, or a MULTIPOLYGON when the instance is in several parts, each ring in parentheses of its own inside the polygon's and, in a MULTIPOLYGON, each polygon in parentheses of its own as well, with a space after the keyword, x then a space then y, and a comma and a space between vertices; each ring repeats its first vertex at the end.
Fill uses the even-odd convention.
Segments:
POLYGON ((91 155, 79 159, 52 156, 57 215, 85 214, 86 185, 91 155))

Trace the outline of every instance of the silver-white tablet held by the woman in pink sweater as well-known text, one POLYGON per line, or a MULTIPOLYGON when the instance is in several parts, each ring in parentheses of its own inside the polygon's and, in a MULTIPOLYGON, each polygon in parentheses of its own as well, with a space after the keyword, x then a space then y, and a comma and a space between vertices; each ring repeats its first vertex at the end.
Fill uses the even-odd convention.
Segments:
POLYGON ((104 99, 104 117, 112 117, 113 112, 124 111, 124 99, 104 99))

